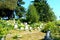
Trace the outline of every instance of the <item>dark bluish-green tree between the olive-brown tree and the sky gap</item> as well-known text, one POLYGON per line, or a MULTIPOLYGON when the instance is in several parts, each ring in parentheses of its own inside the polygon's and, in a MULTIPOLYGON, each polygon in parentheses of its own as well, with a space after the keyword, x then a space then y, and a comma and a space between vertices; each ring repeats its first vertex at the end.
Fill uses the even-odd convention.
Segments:
POLYGON ((17 12, 17 15, 19 17, 22 17, 23 14, 25 13, 25 8, 21 5, 25 4, 25 2, 23 0, 18 0, 17 2, 17 7, 16 7, 16 12, 17 12))

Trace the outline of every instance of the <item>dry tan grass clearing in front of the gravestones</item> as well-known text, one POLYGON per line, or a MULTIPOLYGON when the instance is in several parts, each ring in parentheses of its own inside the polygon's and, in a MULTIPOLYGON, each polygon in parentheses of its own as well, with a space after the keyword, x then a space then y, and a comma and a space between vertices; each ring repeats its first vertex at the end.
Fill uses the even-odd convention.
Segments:
POLYGON ((42 40, 45 33, 39 32, 38 30, 23 31, 23 30, 10 30, 10 36, 6 36, 6 40, 42 40), (20 36, 17 38, 16 36, 20 36), (14 38, 16 37, 16 38, 14 38))

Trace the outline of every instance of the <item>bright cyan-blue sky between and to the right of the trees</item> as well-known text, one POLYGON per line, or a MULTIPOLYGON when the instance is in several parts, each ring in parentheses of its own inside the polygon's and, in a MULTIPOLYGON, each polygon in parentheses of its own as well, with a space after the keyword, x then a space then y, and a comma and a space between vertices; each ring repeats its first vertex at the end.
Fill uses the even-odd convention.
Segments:
MULTIPOLYGON (((25 5, 24 7, 26 9, 28 9, 29 7, 29 4, 31 4, 31 1, 32 0, 23 0, 25 2, 25 5)), ((53 8, 52 10, 54 11, 56 17, 57 17, 57 20, 59 20, 59 16, 60 16, 60 0, 48 0, 47 1, 48 4, 50 5, 51 8, 53 8)))

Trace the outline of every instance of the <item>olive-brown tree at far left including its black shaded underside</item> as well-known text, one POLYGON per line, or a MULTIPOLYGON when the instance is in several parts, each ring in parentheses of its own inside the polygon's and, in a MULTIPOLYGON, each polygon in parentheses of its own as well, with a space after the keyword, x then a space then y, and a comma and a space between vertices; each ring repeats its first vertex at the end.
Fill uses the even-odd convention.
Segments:
POLYGON ((18 0, 0 0, 0 17, 10 18, 13 10, 17 7, 18 0))

